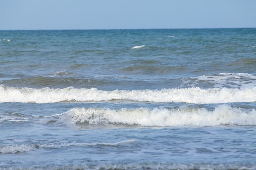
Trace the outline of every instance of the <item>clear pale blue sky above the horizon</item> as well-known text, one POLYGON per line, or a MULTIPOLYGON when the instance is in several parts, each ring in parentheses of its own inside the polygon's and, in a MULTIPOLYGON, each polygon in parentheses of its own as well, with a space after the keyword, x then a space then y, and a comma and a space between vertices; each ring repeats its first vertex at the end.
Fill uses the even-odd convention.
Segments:
POLYGON ((0 0, 0 30, 256 28, 256 0, 0 0))

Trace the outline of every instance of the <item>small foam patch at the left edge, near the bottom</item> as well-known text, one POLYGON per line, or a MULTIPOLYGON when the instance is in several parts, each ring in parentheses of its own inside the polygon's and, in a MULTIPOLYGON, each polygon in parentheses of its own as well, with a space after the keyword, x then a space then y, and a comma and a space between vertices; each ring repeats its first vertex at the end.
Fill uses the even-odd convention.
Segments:
POLYGON ((0 153, 16 153, 16 152, 27 152, 34 150, 36 146, 34 144, 12 144, 6 146, 0 146, 0 153))

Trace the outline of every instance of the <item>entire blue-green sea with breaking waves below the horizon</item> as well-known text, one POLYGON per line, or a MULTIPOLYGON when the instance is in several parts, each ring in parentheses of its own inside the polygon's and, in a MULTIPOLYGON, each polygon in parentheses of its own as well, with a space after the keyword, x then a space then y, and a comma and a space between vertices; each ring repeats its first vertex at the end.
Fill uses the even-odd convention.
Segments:
POLYGON ((256 170, 256 28, 0 31, 0 170, 256 170))

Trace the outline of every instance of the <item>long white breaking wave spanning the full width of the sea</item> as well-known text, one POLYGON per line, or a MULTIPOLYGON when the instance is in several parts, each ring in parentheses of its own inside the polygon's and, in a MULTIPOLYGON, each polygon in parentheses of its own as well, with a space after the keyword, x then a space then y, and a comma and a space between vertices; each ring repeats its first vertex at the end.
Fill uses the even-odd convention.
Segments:
POLYGON ((256 87, 238 88, 171 88, 162 90, 115 90, 97 88, 19 88, 0 86, 0 102, 56 103, 110 100, 135 102, 184 102, 193 104, 256 102, 256 87))

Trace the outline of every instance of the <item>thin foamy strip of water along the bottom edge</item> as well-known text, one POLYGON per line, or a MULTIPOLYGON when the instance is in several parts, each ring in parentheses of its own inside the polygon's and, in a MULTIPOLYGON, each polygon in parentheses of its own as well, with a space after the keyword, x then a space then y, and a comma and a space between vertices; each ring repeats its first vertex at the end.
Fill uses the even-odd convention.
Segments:
MULTIPOLYGON (((240 164, 211 164, 211 163, 98 163, 97 165, 63 165, 46 166, 38 168, 34 166, 18 166, 8 170, 255 170, 256 165, 240 164)), ((7 170, 0 167, 0 170, 7 170)))

